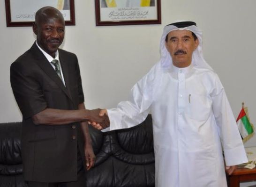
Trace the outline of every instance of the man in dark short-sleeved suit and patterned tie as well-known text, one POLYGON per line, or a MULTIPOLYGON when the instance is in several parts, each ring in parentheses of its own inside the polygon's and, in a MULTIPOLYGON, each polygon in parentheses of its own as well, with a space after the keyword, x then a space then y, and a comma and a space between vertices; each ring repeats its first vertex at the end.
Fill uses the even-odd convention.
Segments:
MULTIPOLYGON (((59 49, 65 21, 59 10, 36 13, 37 41, 11 65, 11 86, 23 114, 23 174, 30 187, 85 187, 93 164, 75 54, 59 49), (85 164, 86 160, 86 164, 85 164)), ((95 115, 97 116, 97 115, 95 115)))

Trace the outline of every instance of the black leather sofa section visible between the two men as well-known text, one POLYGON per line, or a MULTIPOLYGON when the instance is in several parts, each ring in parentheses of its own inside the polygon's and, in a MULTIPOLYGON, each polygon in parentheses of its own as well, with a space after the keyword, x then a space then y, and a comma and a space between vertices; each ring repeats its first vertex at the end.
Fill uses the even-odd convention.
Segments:
POLYGON ((87 187, 155 186, 151 115, 130 129, 102 133, 89 128, 96 163, 87 174, 87 187))

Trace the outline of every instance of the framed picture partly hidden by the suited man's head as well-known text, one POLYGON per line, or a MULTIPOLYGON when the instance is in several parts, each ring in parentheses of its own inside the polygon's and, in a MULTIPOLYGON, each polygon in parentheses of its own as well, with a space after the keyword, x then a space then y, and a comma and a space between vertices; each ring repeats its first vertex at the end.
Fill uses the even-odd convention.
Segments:
POLYGON ((74 0, 5 0, 7 27, 32 26, 37 10, 45 6, 59 9, 66 25, 75 25, 74 0))

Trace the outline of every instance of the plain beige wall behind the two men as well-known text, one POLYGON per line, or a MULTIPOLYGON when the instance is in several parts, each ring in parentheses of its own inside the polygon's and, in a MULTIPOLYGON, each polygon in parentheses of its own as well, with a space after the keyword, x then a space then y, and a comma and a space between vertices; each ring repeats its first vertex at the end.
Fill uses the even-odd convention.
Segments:
MULTIPOLYGON (((10 64, 35 40, 30 27, 6 27, 0 1, 0 122, 21 121, 9 83, 10 64)), ((112 108, 159 59, 163 27, 192 20, 203 30, 204 57, 218 73, 235 117, 241 102, 256 125, 256 1, 162 0, 161 25, 95 26, 93 0, 75 1, 75 26, 62 48, 78 56, 87 108, 112 108)), ((255 140, 250 141, 256 145, 255 140)), ((249 144, 250 144, 249 142, 249 144)))

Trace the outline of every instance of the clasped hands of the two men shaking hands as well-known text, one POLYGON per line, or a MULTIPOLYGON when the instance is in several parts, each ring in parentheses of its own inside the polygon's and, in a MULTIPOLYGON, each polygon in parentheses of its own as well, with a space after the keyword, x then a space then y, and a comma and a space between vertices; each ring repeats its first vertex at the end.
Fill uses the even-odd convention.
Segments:
POLYGON ((109 127, 110 122, 109 122, 106 109, 100 109, 100 108, 93 109, 93 110, 86 109, 86 116, 88 116, 86 117, 88 123, 98 130, 102 130, 109 127))

